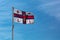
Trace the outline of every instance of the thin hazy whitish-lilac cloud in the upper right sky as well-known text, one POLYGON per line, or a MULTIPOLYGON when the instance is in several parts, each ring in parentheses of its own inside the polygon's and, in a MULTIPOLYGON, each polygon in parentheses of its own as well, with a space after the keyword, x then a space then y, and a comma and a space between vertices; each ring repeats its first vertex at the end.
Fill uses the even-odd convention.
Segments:
POLYGON ((53 1, 38 6, 38 10, 43 10, 50 16, 60 20, 60 1, 53 1))

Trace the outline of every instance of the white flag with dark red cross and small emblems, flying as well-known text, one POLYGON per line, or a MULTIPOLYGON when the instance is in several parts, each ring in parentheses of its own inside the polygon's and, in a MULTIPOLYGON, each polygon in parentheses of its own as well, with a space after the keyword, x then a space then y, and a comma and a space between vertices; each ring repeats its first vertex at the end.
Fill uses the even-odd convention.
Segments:
POLYGON ((14 9, 14 21, 23 24, 33 24, 34 15, 30 12, 14 9))

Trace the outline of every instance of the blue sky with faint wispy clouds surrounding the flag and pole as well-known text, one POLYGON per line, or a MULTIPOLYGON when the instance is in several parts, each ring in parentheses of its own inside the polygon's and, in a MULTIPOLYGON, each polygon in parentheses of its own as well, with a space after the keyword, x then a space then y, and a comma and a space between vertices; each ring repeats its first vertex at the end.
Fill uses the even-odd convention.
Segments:
POLYGON ((0 0, 0 40, 11 40, 12 6, 32 12, 34 24, 14 22, 14 40, 60 40, 60 0, 0 0))

